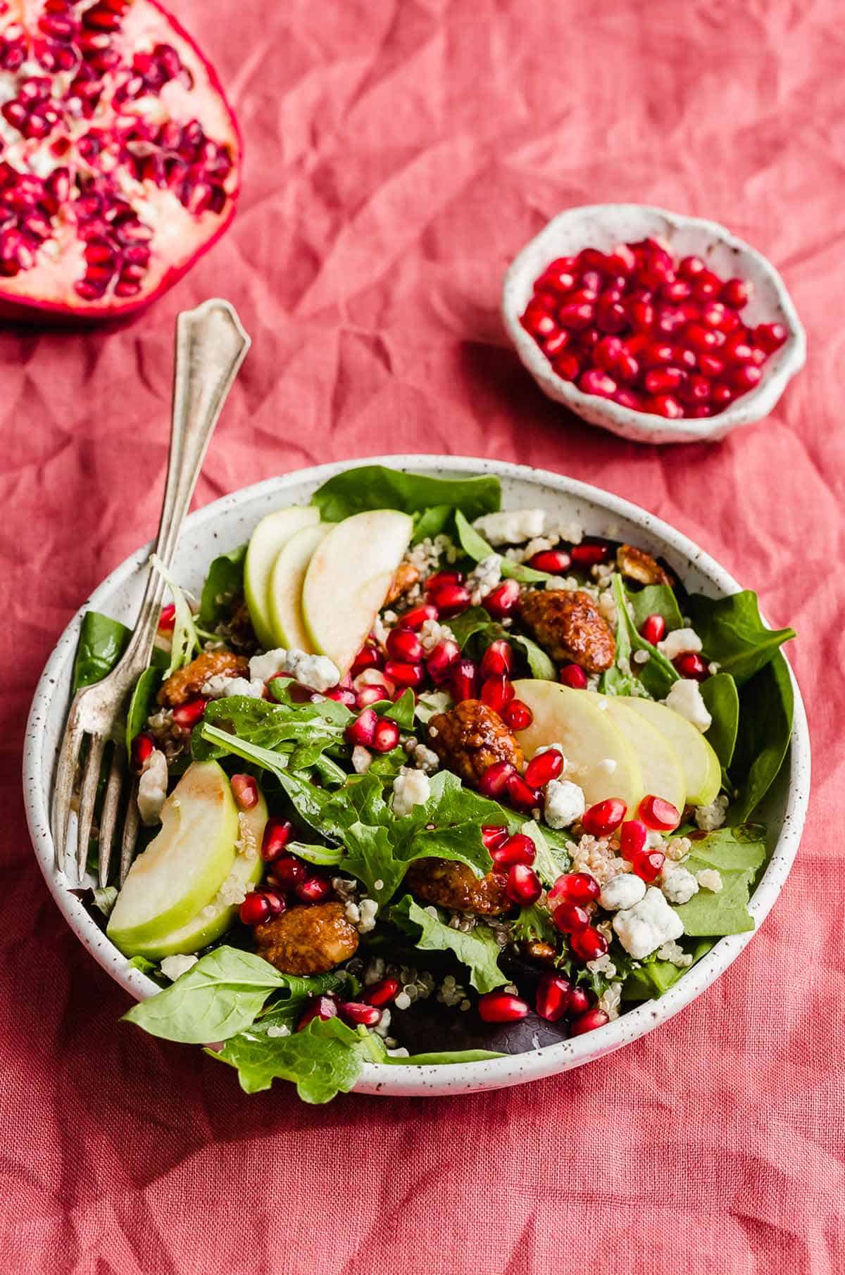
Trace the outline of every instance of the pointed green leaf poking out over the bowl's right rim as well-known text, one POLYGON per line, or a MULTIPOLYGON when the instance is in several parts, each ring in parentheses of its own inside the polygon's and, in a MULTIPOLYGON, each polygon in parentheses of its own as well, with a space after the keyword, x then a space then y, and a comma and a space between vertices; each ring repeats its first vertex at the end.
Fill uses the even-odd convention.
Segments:
POLYGON ((705 598, 693 593, 686 611, 701 638, 709 660, 730 673, 737 686, 774 659, 783 643, 795 636, 794 629, 766 629, 760 618, 757 594, 751 589, 729 598, 705 598))

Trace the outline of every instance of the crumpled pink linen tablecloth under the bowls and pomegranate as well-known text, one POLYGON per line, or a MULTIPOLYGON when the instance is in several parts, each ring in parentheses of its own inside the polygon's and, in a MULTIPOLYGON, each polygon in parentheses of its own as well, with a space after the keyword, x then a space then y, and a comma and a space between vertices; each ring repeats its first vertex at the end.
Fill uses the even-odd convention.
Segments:
POLYGON ((240 111, 233 229, 122 332, 0 333, 0 1270, 844 1271, 841 6, 175 8, 240 111), (637 448, 534 389, 502 272, 549 215, 600 200, 715 218, 779 264, 811 357, 766 422, 637 448), (173 319, 220 291, 254 348, 198 502, 391 450, 520 460, 656 511, 799 631, 816 778, 795 868, 728 974, 613 1057, 468 1098, 247 1099, 199 1051, 117 1025, 126 997, 51 901, 20 797, 29 699, 154 528, 173 319))

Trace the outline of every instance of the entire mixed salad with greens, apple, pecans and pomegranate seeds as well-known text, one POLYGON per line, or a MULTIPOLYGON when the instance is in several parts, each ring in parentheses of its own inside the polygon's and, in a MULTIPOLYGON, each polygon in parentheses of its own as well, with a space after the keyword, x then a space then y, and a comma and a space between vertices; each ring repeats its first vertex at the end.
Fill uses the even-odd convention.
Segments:
MULTIPOLYGON (((168 584, 126 713, 145 838, 90 907, 162 986, 126 1019, 245 1090, 600 1028, 753 928, 794 636, 753 593, 381 467, 168 584)), ((89 612, 74 688, 127 636, 89 612)))

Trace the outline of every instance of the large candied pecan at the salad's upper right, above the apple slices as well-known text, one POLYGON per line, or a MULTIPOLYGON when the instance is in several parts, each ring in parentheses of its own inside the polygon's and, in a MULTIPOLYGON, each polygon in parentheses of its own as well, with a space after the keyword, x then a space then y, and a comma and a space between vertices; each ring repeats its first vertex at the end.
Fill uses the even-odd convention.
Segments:
POLYGON ((552 659, 603 673, 616 659, 616 639, 598 604, 580 589, 531 589, 520 613, 552 659))

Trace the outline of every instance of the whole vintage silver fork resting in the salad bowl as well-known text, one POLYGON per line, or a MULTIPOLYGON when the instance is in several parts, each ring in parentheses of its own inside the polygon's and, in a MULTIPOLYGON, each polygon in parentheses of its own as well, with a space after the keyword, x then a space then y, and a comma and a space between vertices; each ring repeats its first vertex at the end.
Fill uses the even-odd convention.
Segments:
MULTIPOLYGON (((170 567, 187 507, 203 468, 214 426, 250 348, 250 338, 228 301, 205 301, 176 320, 176 360, 173 370, 173 412, 171 425, 167 483, 158 523, 155 552, 170 567)), ((139 674, 149 664, 164 581, 150 569, 129 645, 115 668, 102 682, 76 692, 59 752, 54 788, 52 836, 56 867, 71 878, 73 848, 69 838, 70 811, 83 743, 87 754, 79 785, 76 834, 76 882, 85 875, 88 844, 97 799, 97 787, 106 746, 113 742, 99 820, 99 884, 108 881, 117 812, 129 759, 122 742, 124 706, 139 674)), ((138 780, 133 780, 124 821, 120 881, 129 871, 138 840, 138 780)))

